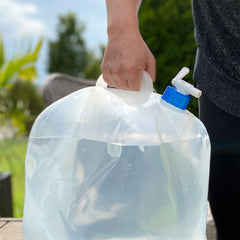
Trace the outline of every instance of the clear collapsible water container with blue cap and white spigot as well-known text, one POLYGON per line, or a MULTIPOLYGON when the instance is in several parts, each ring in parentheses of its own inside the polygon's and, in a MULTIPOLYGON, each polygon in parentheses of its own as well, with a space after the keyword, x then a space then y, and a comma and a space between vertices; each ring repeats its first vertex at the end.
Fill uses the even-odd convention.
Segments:
POLYGON ((210 143, 186 110, 200 91, 76 91, 46 108, 26 157, 24 240, 206 239, 210 143))

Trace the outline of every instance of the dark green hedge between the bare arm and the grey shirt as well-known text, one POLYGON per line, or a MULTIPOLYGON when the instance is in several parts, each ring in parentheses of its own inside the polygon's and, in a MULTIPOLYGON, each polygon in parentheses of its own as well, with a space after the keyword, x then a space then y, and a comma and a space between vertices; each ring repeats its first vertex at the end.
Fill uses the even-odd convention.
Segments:
MULTIPOLYGON (((139 11, 139 26, 143 39, 156 58, 154 87, 163 93, 171 79, 183 67, 194 67, 196 43, 191 1, 147 0, 139 11)), ((192 72, 185 78, 193 83, 192 72)), ((197 100, 189 110, 197 115, 197 100)))

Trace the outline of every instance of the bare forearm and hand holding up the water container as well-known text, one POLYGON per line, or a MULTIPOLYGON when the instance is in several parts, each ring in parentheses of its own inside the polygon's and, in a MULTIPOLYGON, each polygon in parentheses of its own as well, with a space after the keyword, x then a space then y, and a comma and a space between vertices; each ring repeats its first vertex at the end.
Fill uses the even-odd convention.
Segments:
POLYGON ((101 66, 110 87, 139 90, 141 73, 155 79, 155 59, 138 29, 141 0, 106 0, 108 44, 101 66))

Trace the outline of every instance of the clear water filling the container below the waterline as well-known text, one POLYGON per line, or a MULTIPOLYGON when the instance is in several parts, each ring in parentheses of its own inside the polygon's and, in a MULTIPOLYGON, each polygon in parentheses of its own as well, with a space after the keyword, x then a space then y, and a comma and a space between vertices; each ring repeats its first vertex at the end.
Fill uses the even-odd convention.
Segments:
MULTIPOLYGON (((37 230, 39 239, 205 239, 206 141, 124 146, 30 138, 25 219, 34 214, 48 222, 37 230)), ((31 236, 34 220, 24 228, 31 236)))

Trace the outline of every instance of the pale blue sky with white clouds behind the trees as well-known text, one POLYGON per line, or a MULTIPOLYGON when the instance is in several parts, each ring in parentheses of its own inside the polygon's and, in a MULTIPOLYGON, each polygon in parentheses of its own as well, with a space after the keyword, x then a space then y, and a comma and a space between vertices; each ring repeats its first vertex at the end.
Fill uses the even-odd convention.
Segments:
POLYGON ((0 34, 8 57, 44 39, 37 63, 40 85, 48 74, 48 41, 56 39, 58 16, 69 11, 85 23, 87 46, 99 54, 98 46, 107 43, 105 0, 0 0, 0 34))

